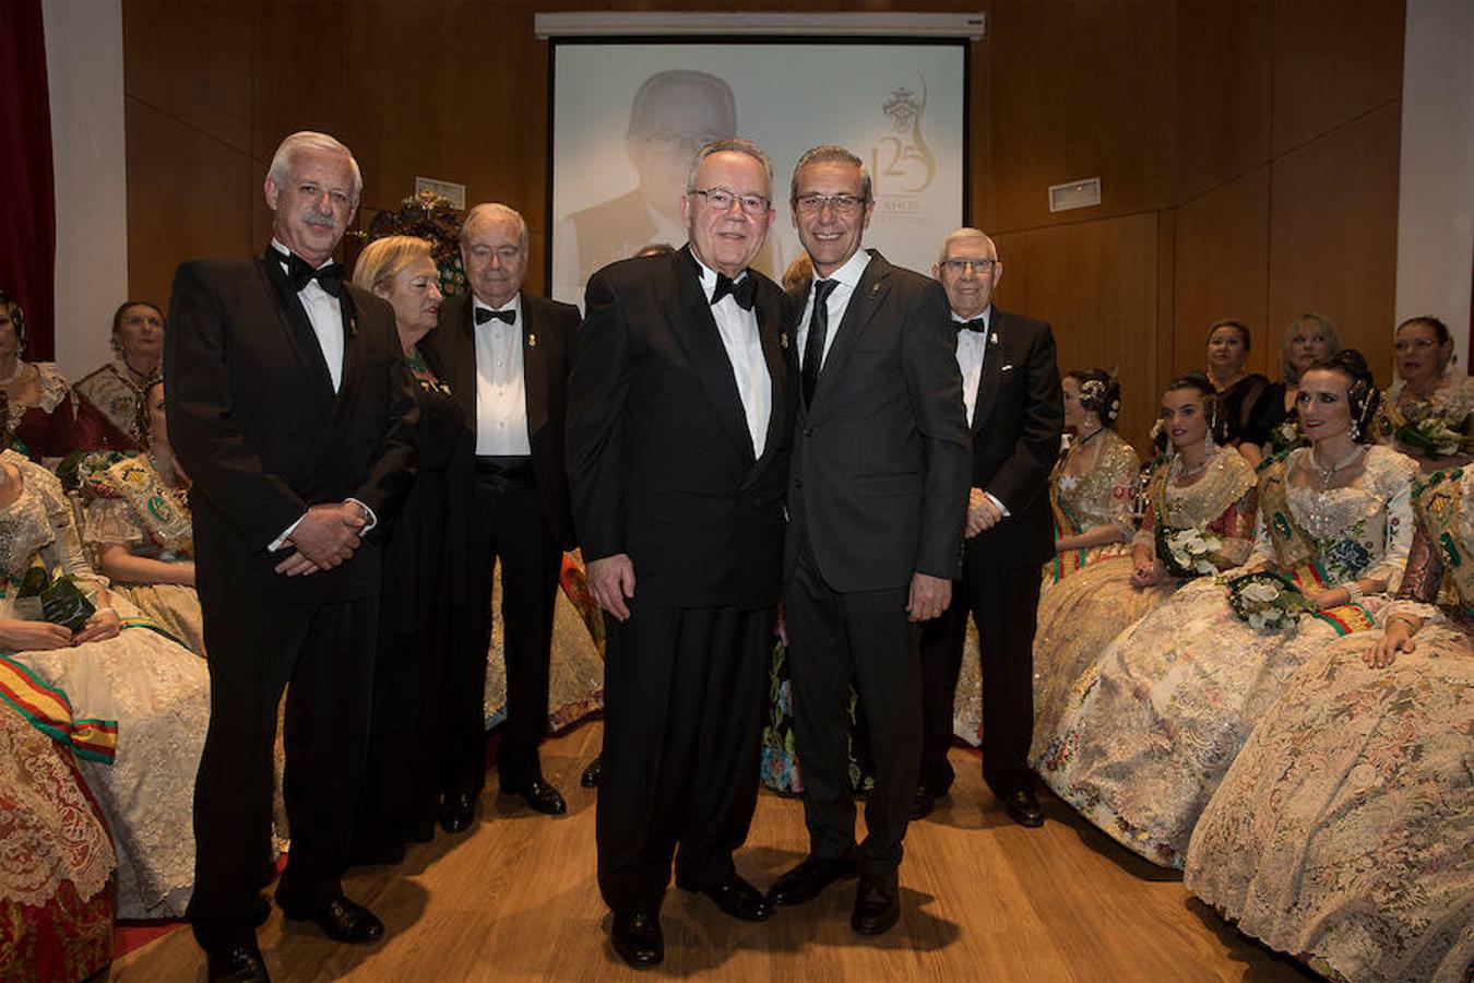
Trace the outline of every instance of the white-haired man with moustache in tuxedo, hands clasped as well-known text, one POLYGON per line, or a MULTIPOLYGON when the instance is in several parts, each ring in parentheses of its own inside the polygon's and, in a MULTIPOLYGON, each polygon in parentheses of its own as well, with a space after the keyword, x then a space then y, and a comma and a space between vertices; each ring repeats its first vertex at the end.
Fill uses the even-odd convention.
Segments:
POLYGON ((394 311, 332 251, 363 178, 318 133, 265 180, 271 246, 189 261, 164 352, 170 436, 193 479, 209 732, 195 787, 195 937, 209 979, 264 980, 255 927, 271 877, 271 746, 286 700, 292 855, 276 899, 339 942, 383 924, 343 898, 367 747, 379 544, 413 479, 414 399, 394 311))

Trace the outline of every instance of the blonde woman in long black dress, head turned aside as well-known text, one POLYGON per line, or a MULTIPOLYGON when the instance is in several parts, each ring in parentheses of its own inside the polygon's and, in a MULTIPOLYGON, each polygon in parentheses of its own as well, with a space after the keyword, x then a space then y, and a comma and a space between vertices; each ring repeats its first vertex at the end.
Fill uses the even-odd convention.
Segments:
POLYGON ((447 467, 466 433, 460 405, 419 346, 441 309, 430 243, 386 236, 368 243, 354 283, 394 307, 420 408, 414 485, 383 544, 379 650, 368 763, 352 825, 352 859, 392 864, 408 842, 435 836, 442 681, 450 610, 447 467))

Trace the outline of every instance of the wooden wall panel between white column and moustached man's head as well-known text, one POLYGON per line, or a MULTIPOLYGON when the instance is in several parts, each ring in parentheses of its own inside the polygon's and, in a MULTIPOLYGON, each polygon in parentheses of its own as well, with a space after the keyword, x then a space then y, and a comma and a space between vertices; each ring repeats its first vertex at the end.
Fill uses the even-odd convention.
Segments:
POLYGON ((258 171, 243 152, 137 99, 124 100, 124 115, 128 293, 165 305, 180 259, 242 255, 243 243, 251 242, 251 205, 243 189, 258 171))

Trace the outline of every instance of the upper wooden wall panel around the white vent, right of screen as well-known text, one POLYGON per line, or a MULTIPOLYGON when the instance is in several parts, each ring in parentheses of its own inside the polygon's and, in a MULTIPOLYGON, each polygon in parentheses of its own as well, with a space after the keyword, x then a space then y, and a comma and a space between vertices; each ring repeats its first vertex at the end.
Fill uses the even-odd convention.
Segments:
POLYGON ((991 7, 995 228, 1172 203, 1173 7, 1170 0, 991 7), (1100 206, 1051 215, 1051 184, 1097 175, 1100 206))

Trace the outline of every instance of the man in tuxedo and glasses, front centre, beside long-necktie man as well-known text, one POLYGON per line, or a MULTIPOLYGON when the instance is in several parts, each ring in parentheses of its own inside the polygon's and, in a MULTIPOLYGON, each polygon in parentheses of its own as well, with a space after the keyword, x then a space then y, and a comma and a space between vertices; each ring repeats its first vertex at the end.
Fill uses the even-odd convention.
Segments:
POLYGON ((607 612, 598 887, 635 967, 663 955, 672 855, 678 887, 772 915, 733 864, 758 800, 793 426, 783 295, 749 268, 772 168, 746 140, 691 167, 690 243, 594 274, 569 380, 573 519, 607 612))

